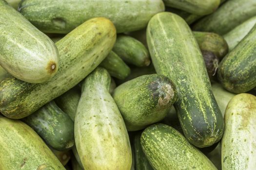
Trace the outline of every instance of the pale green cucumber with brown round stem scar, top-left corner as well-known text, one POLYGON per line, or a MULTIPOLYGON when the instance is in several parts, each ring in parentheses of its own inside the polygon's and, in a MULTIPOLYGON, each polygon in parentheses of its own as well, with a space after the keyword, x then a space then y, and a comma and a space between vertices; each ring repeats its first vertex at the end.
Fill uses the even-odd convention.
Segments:
POLYGON ((55 44, 4 0, 0 11, 0 65, 25 82, 51 79, 59 68, 55 44))

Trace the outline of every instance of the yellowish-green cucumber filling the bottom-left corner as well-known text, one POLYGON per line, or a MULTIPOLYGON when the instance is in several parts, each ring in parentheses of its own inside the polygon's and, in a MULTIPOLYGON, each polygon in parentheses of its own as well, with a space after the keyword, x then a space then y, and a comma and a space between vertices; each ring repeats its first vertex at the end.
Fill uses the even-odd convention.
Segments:
POLYGON ((0 170, 65 170, 28 125, 0 117, 0 170))

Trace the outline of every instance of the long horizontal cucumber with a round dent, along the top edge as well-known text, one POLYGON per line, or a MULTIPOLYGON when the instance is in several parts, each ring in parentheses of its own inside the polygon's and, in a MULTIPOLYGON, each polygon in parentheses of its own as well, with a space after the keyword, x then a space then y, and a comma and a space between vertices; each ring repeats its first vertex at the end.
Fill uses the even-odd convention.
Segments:
POLYGON ((67 34, 93 17, 109 18, 123 33, 145 28, 153 15, 164 11, 164 4, 162 0, 22 0, 19 11, 45 33, 67 34))

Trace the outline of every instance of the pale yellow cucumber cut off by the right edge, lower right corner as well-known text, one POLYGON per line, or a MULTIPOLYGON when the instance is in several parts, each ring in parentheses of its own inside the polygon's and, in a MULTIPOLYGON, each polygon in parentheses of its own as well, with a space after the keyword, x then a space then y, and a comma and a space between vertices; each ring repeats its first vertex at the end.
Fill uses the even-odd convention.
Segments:
POLYGON ((228 103, 222 138, 222 170, 256 168, 256 97, 238 94, 228 103))

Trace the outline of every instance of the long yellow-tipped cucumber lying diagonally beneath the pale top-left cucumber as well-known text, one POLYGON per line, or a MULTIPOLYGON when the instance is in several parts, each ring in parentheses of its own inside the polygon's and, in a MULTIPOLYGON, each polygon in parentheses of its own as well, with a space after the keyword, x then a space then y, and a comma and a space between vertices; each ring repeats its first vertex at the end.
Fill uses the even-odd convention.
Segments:
POLYGON ((15 78, 0 83, 0 112, 21 119, 38 110, 83 80, 107 56, 116 40, 113 23, 93 18, 56 43, 59 71, 51 81, 29 84, 15 78))

